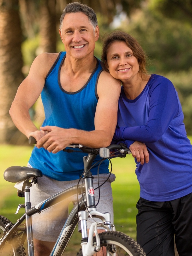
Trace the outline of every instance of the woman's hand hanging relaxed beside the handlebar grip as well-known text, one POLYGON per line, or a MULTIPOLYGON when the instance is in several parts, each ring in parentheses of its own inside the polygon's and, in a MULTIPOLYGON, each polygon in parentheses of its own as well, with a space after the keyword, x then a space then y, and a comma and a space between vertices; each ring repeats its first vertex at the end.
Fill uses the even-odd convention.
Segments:
POLYGON ((132 156, 136 157, 137 162, 140 162, 140 164, 149 162, 149 153, 144 143, 135 141, 130 145, 129 149, 131 150, 132 156))

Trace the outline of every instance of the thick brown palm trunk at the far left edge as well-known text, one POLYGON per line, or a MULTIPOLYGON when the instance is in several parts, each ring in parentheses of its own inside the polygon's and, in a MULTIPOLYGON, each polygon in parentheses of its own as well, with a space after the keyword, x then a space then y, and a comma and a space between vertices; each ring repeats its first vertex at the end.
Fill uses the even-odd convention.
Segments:
POLYGON ((24 79, 21 39, 18 0, 0 1, 0 143, 24 139, 9 115, 17 88, 24 79))

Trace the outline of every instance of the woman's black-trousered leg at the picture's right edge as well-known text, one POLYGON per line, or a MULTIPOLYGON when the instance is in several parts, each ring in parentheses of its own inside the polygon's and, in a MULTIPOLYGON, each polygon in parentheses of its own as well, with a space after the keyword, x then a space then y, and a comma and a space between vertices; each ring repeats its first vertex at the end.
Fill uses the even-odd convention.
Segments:
POLYGON ((175 243, 178 254, 192 256, 192 193, 170 201, 174 210, 172 220, 175 232, 175 243))

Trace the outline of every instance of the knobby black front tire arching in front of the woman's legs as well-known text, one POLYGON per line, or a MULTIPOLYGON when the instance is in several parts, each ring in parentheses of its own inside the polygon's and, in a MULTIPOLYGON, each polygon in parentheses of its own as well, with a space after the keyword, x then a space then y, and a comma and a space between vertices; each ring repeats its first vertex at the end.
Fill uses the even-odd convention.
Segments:
MULTIPOLYGON (((101 247, 106 246, 107 244, 119 243, 123 247, 125 247, 125 251, 127 250, 126 255, 131 256, 146 256, 142 247, 130 236, 119 232, 119 231, 107 231, 99 234, 101 247)), ((96 238, 94 237, 93 242, 96 242, 96 238)), ((79 250, 77 256, 83 256, 82 249, 79 250)))

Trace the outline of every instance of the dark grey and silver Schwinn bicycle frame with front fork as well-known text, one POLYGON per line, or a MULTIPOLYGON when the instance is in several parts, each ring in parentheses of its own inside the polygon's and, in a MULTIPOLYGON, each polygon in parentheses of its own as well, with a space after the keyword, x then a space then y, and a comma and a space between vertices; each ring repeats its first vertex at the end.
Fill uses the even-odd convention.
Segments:
MULTIPOLYGON (((66 248, 71 236, 73 235, 73 232, 75 231, 76 226, 78 225, 78 222, 80 220, 81 222, 81 230, 82 230, 82 251, 83 255, 92 255, 96 251, 100 250, 100 240, 97 239, 96 246, 92 245, 92 239, 95 232, 96 237, 97 234, 97 226, 102 226, 107 230, 111 230, 111 217, 109 213, 102 214, 96 210, 95 206, 95 199, 94 199, 94 189, 93 189, 93 176, 91 172, 89 171, 91 164, 96 157, 95 154, 89 153, 88 156, 83 157, 84 161, 84 176, 85 177, 85 186, 79 185, 70 187, 68 189, 65 189, 61 191, 60 193, 53 195, 52 197, 46 199, 45 201, 39 203, 38 205, 35 205, 31 208, 30 203, 30 186, 31 183, 29 180, 25 181, 24 185, 24 194, 25 194, 25 204, 19 205, 17 212, 20 208, 25 207, 25 214, 18 219, 18 221, 14 224, 14 226, 7 231, 7 234, 2 238, 0 241, 0 247, 3 243, 3 241, 6 238, 9 238, 11 236, 12 232, 17 231, 26 231, 27 233, 27 244, 28 244, 28 256, 34 256, 34 249, 33 249, 33 232, 32 232, 32 221, 31 216, 36 213, 40 213, 41 211, 47 209, 48 207, 56 205, 58 202, 63 201, 64 199, 69 198, 71 195, 77 195, 81 194, 82 191, 84 193, 83 197, 79 200, 79 203, 76 203, 73 209, 71 210, 71 213, 69 214, 61 232, 60 235, 52 249, 52 252, 50 253, 50 256, 54 255, 62 255, 64 249, 66 248), (93 194, 90 193, 90 189, 92 190, 93 194), (84 201, 86 201, 86 207, 84 205, 84 201), (78 212, 79 210, 79 212, 78 212), (88 216, 94 216, 98 217, 102 220, 100 223, 93 223, 89 236, 87 234, 87 226, 86 226, 86 220, 88 219, 88 216), (20 227, 22 222, 26 219, 26 229, 20 227)), ((25 235, 26 237, 26 235, 25 235)))

